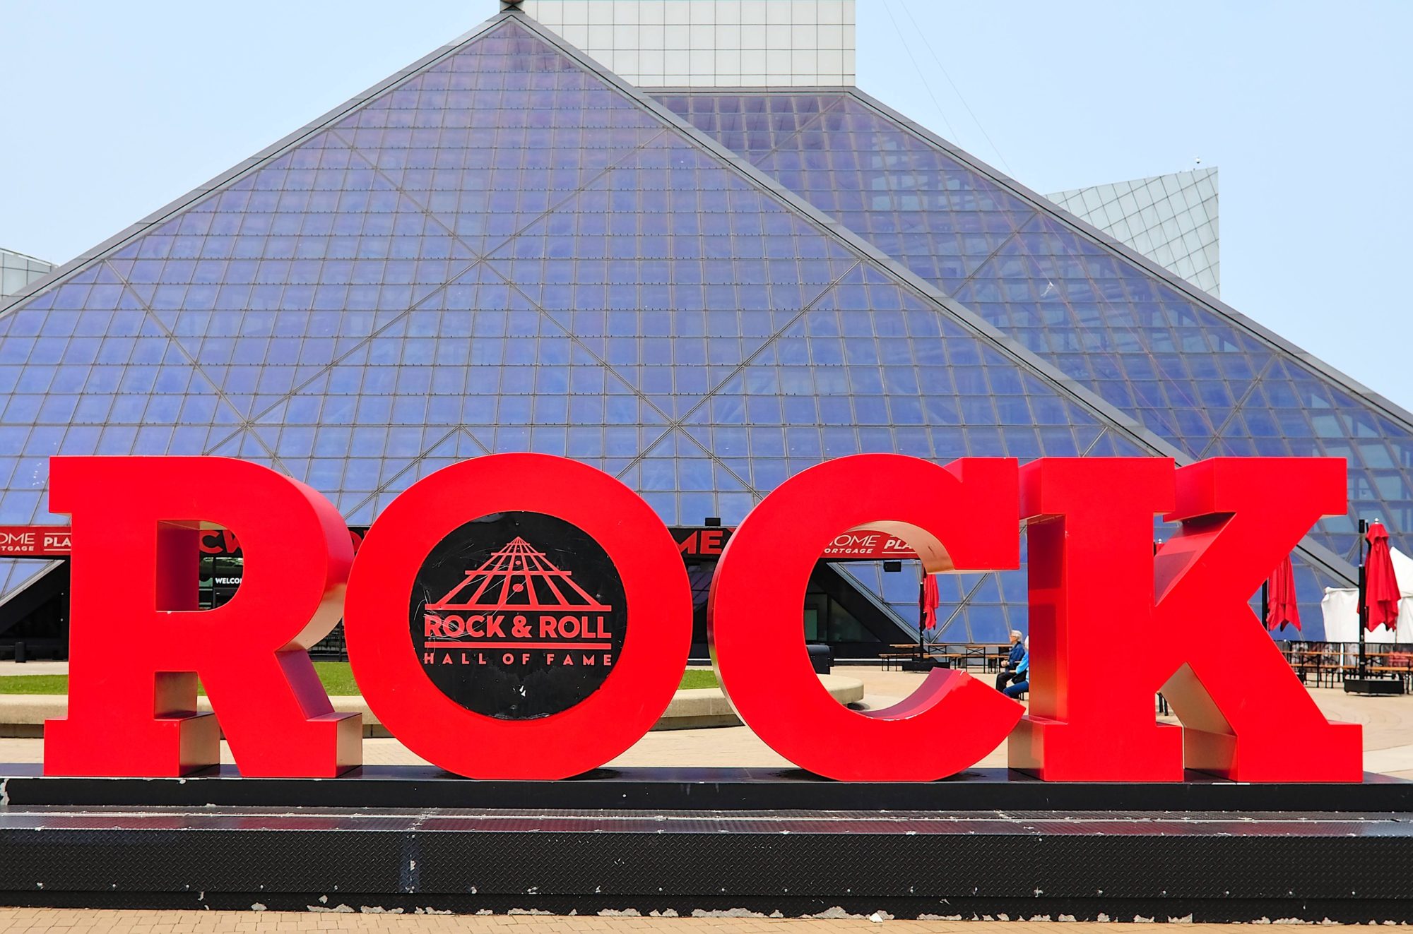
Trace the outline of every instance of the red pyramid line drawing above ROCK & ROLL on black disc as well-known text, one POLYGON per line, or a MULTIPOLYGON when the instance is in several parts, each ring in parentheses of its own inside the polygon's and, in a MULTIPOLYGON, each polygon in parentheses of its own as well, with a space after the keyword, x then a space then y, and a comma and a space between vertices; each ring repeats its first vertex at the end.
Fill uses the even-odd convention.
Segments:
POLYGON ((572 580, 572 571, 555 567, 544 552, 516 536, 492 554, 445 597, 428 604, 431 612, 612 612, 572 580))

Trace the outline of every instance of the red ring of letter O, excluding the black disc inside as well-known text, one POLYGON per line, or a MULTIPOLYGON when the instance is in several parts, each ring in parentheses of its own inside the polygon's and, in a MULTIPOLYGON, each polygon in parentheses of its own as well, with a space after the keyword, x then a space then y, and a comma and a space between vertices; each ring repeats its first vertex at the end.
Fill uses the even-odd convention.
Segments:
POLYGON ((475 779, 564 779, 603 765, 663 715, 691 649, 691 587, 667 526, 617 480, 548 454, 489 454, 408 487, 363 539, 345 612, 353 674, 383 725, 428 762, 475 779), (486 717, 442 694, 422 672, 407 619, 431 549, 465 522, 512 511, 555 516, 592 536, 613 560, 636 621, 598 690, 536 720, 486 717))

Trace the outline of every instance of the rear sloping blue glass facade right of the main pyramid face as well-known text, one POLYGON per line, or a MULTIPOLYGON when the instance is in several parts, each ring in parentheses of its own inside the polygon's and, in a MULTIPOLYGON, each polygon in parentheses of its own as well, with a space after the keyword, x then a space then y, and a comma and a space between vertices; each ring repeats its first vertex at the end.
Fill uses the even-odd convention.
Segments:
POLYGON ((1413 429, 1210 299, 851 90, 663 93, 664 104, 1190 457, 1349 461, 1355 518, 1413 550, 1413 429))

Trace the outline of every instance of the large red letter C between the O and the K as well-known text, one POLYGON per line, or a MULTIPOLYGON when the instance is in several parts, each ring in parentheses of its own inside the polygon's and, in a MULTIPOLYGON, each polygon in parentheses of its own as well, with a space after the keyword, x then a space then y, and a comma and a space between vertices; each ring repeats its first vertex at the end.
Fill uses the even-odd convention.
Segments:
POLYGON ((995 749, 1022 707, 964 672, 934 669, 885 710, 841 705, 810 667, 800 608, 825 546, 865 525, 906 540, 930 571, 1017 567, 1016 484, 1010 459, 859 454, 777 487, 726 543, 706 609, 736 714, 786 759, 839 780, 931 782, 995 749))

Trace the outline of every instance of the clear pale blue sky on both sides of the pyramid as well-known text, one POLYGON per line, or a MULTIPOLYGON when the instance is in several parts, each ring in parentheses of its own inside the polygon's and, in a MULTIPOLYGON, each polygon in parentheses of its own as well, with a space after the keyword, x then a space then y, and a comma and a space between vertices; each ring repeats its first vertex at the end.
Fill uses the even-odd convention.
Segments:
MULTIPOLYGON (((0 0, 0 245, 68 260, 496 8, 0 0)), ((861 87, 1036 190, 1218 166, 1224 299, 1413 408, 1413 3, 859 0, 858 18, 861 87)))

